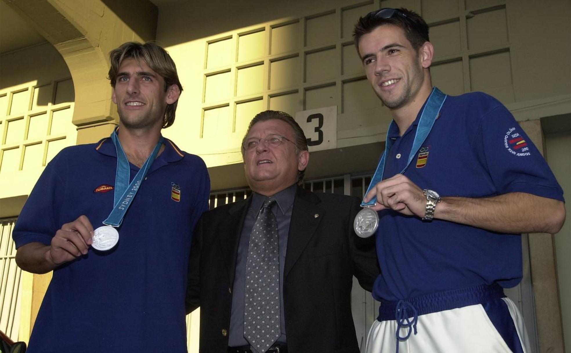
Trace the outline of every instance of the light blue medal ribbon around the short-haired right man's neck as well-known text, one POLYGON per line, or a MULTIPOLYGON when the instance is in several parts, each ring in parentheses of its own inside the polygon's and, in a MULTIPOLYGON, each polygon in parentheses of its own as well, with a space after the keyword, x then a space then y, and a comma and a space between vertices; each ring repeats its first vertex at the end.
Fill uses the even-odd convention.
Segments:
MULTIPOLYGON (((442 93, 436 87, 434 87, 432 89, 432 92, 431 92, 430 96, 428 97, 428 102, 424 106, 423 112, 420 115, 419 126, 416 128, 415 141, 412 143, 411 153, 409 153, 409 155, 408 155, 407 165, 400 172, 401 174, 404 173, 404 171, 407 169, 407 167, 411 164, 412 159, 416 155, 416 151, 418 151, 420 149, 420 146, 427 139, 428 134, 432 130, 432 126, 434 125, 434 122, 436 121, 436 117, 438 117, 438 114, 440 113, 440 109, 444 105, 444 101, 446 100, 446 97, 447 97, 447 95, 442 93)), ((385 142, 385 151, 383 152, 383 156, 381 157, 381 160, 379 161, 379 165, 377 166, 377 169, 375 170, 375 174, 373 174, 373 177, 371 178, 371 183, 369 184, 369 187, 367 188, 367 192, 365 192, 365 195, 367 195, 369 193, 369 191, 371 191, 371 189, 373 187, 375 187, 375 185, 377 183, 379 183, 381 180, 383 180, 383 172, 385 170, 385 160, 387 159, 387 155, 389 153, 389 150, 391 150, 391 147, 392 147, 392 141, 389 138, 389 133, 392 131, 392 129, 395 129, 395 121, 394 120, 391 122, 391 124, 389 125, 389 129, 387 130, 387 139, 385 142)), ((361 207, 373 206, 376 202, 377 202, 377 196, 373 196, 373 198, 371 200, 369 200, 369 202, 361 202, 361 207)))

